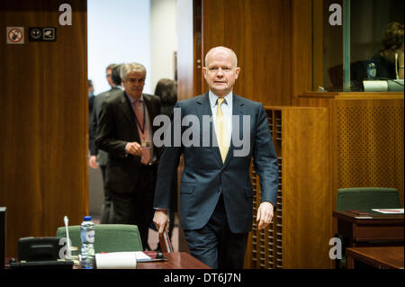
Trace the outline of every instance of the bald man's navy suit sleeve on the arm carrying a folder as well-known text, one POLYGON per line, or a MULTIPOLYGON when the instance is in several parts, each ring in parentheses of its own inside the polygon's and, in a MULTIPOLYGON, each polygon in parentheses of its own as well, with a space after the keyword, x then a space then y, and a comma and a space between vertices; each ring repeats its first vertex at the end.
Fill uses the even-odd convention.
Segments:
MULTIPOLYGON (((180 108, 179 103, 175 103, 175 108, 180 108)), ((169 145, 164 145, 162 155, 160 157, 159 166, 157 169, 157 184, 155 191, 155 202, 153 207, 156 209, 169 209, 170 208, 170 189, 173 185, 173 181, 176 181, 175 177, 177 166, 180 161, 180 156, 183 152, 183 147, 175 147, 175 137, 181 135, 175 135, 174 121, 172 113, 172 121, 170 124, 170 139, 169 145)))

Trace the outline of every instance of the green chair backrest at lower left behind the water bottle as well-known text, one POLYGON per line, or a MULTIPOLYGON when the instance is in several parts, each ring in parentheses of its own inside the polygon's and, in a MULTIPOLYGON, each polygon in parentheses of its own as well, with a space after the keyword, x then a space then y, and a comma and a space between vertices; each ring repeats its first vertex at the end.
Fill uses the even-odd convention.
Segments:
MULTIPOLYGON (((80 226, 68 227, 72 247, 81 246, 80 226)), ((65 227, 58 228, 57 238, 66 238, 65 227)), ((95 224, 94 252, 143 251, 139 230, 136 225, 95 224)))

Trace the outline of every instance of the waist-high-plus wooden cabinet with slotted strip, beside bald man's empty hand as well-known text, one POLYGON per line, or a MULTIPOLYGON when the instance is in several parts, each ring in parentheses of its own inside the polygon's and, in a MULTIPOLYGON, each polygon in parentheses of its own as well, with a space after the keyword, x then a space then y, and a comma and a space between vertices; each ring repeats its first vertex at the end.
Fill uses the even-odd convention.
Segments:
POLYGON ((266 107, 279 165, 274 219, 257 230, 259 178, 252 166, 254 222, 246 268, 330 268, 329 114, 326 108, 266 107))

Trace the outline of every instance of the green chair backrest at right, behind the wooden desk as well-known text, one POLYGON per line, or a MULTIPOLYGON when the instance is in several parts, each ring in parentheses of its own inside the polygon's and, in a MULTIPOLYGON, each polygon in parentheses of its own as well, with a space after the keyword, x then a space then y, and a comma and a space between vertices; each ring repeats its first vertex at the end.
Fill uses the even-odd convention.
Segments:
POLYGON ((356 187, 338 189, 337 211, 401 208, 396 188, 356 187))

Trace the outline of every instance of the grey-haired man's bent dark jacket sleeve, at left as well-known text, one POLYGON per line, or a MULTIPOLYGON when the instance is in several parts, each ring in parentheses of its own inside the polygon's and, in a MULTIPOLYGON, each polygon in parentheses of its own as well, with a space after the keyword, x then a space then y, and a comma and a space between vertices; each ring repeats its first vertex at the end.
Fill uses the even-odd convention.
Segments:
POLYGON ((104 151, 116 156, 127 157, 125 146, 128 141, 115 139, 115 116, 113 103, 103 101, 97 124, 95 145, 104 151))

